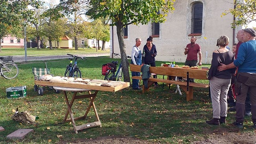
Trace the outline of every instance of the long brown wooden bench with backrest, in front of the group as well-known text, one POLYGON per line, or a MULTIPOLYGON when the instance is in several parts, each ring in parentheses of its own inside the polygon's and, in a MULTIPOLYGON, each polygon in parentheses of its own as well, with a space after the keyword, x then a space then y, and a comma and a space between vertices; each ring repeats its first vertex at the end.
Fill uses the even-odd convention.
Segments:
MULTIPOLYGON (((141 65, 130 64, 131 72, 140 72, 141 65)), ((191 69, 191 68, 171 68, 171 67, 149 67, 150 73, 156 73, 157 75, 164 76, 180 76, 187 78, 187 81, 176 81, 176 80, 164 80, 158 78, 149 78, 148 79, 148 88, 142 86, 142 92, 148 92, 149 87, 155 82, 166 83, 166 84, 178 84, 184 92, 186 92, 187 101, 193 99, 193 88, 208 88, 209 84, 200 84, 189 82, 189 78, 199 79, 199 80, 208 80, 207 72, 208 70, 202 69, 191 69)), ((132 79, 141 80, 142 76, 132 76, 132 79)))

